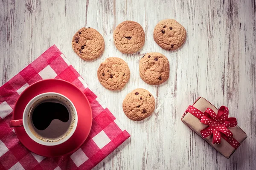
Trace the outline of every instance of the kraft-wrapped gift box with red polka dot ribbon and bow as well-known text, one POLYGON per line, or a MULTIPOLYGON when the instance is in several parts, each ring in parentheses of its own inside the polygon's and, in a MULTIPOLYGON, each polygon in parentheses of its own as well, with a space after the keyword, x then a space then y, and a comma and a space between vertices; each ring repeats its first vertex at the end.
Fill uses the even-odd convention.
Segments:
POLYGON ((236 118, 228 116, 227 107, 217 109, 206 99, 199 97, 186 109, 181 120, 229 159, 247 135, 237 126, 236 118))

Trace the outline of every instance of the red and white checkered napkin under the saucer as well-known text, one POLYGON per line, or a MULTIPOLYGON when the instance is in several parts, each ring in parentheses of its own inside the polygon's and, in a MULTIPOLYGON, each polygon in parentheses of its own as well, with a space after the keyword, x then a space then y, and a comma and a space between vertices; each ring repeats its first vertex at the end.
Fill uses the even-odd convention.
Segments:
POLYGON ((88 88, 66 57, 53 45, 34 62, 0 87, 0 170, 91 169, 130 137, 113 114, 88 88), (21 92, 42 79, 72 82, 87 96, 93 124, 84 144, 75 153, 59 158, 38 156, 24 147, 9 127, 12 111, 21 92))

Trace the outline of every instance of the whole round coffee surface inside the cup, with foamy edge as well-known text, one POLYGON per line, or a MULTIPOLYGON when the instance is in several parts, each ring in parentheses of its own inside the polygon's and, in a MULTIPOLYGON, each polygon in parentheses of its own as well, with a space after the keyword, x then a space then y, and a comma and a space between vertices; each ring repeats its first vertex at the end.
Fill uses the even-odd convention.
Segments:
POLYGON ((62 96, 43 96, 29 108, 28 125, 36 138, 44 142, 58 142, 73 130, 75 110, 62 96))

